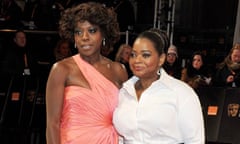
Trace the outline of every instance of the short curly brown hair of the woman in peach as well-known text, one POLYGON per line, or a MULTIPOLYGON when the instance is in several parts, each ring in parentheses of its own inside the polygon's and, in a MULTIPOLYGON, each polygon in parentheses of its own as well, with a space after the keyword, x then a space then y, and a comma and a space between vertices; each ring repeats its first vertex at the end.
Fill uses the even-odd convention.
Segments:
POLYGON ((66 9, 59 21, 60 36, 73 41, 74 28, 78 22, 83 21, 100 27, 106 48, 111 48, 120 39, 117 14, 113 9, 97 2, 81 3, 66 9))

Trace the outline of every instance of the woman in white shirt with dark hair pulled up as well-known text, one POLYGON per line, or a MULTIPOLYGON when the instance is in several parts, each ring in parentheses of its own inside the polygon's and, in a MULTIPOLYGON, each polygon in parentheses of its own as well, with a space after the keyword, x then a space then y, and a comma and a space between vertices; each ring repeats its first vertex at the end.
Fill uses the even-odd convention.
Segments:
POLYGON ((204 121, 194 90, 169 76, 166 37, 158 29, 141 33, 129 59, 134 76, 119 93, 113 123, 124 144, 204 144, 204 121))

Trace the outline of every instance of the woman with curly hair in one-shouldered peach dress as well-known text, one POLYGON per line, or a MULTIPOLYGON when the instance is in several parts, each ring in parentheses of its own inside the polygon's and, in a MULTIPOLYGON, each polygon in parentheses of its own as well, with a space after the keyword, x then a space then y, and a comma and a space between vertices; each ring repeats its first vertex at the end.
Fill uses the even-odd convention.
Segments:
POLYGON ((46 88, 48 144, 117 144, 113 111, 127 72, 100 54, 119 39, 116 14, 98 3, 67 9, 59 33, 78 54, 55 63, 46 88))

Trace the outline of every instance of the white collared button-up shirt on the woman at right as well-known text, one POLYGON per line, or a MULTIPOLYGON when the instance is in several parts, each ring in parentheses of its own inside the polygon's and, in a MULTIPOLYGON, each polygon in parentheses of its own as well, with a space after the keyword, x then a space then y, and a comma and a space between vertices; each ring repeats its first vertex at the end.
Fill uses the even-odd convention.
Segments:
POLYGON ((204 144, 204 121, 198 96, 184 82, 161 69, 137 100, 133 76, 119 93, 113 123, 124 144, 204 144))

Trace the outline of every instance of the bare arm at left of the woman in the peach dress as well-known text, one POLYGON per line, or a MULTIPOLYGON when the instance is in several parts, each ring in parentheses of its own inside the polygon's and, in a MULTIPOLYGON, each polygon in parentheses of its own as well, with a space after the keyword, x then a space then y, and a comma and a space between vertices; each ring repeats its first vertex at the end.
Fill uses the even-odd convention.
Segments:
POLYGON ((67 69, 55 63, 50 71, 46 87, 47 144, 60 144, 60 120, 64 100, 67 69))

